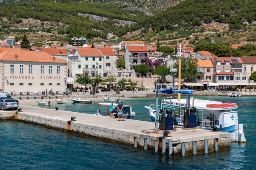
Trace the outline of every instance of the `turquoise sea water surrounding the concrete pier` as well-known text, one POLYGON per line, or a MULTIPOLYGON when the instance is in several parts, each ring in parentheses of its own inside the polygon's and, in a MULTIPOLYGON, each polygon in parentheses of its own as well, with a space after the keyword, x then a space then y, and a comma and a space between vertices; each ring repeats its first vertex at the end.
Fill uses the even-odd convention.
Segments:
MULTIPOLYGON (((195 98, 211 99, 199 96, 195 98)), ((244 124, 246 144, 232 142, 230 150, 172 157, 41 126, 14 121, 0 122, 0 169, 255 169, 256 97, 213 99, 237 103, 239 121, 244 124)), ((144 106, 154 101, 154 98, 136 98, 125 99, 123 103, 134 106, 137 113, 135 119, 151 121, 148 114, 143 112, 147 111, 144 106)), ((38 106, 36 103, 29 105, 38 106)), ((52 102, 49 108, 54 107, 52 102)), ((58 104, 58 107, 82 113, 95 113, 98 109, 96 102, 91 105, 58 104)))

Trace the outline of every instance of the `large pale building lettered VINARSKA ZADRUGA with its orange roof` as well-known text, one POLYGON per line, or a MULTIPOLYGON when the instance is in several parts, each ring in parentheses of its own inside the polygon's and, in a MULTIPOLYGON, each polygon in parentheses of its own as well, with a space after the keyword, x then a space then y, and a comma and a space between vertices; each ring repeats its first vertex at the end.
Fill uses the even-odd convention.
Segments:
POLYGON ((67 62, 45 52, 7 50, 0 53, 1 89, 25 94, 31 91, 64 91, 67 62))

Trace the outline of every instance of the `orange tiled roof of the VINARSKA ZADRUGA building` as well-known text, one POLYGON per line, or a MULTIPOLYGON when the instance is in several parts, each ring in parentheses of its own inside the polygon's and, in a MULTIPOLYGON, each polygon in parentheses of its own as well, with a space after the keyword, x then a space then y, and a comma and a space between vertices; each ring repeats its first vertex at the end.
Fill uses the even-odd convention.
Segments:
MULTIPOLYGON (((37 52, 37 51, 23 51, 23 50, 13 50, 10 49, 0 54, 0 60, 2 61, 16 61, 15 55, 17 55, 17 62, 25 61, 25 62, 52 62, 53 57, 50 54, 45 52, 37 52)), ((62 59, 55 58, 56 63, 67 63, 62 59)))

